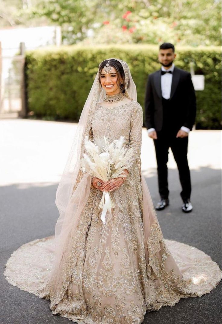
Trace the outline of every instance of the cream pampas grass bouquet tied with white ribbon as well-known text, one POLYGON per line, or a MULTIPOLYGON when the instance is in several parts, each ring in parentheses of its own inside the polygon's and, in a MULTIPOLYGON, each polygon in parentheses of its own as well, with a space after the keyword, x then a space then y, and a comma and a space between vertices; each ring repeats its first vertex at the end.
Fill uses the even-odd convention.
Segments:
MULTIPOLYGON (((94 143, 86 136, 84 146, 87 154, 83 154, 83 168, 89 174, 104 182, 120 176, 124 177, 122 171, 130 166, 133 159, 133 149, 128 149, 123 144, 124 136, 120 136, 119 140, 114 140, 112 143, 109 143, 105 136, 101 139, 95 139, 94 143)), ((103 208, 101 219, 104 224, 107 210, 111 212, 111 208, 114 207, 110 193, 103 191, 98 208, 103 208)))

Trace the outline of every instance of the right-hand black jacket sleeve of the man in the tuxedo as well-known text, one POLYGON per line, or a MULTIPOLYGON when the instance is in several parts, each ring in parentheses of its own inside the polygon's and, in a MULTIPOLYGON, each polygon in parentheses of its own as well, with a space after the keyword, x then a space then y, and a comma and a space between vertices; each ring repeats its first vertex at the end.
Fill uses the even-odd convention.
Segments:
POLYGON ((187 107, 186 119, 185 122, 183 123, 183 126, 192 130, 192 127, 195 122, 195 117, 196 117, 196 96, 195 96, 195 90, 194 90, 190 73, 187 75, 186 93, 188 99, 187 100, 188 107, 187 107))

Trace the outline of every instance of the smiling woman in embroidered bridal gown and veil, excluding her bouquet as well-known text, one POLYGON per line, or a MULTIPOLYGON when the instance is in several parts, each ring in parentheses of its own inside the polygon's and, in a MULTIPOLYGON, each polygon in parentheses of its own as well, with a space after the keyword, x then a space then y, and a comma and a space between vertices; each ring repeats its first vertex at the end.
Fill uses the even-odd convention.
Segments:
POLYGON ((50 299, 53 314, 79 324, 139 324, 146 311, 209 293, 221 279, 204 252, 162 237, 140 172, 143 111, 136 100, 128 65, 100 63, 57 189, 55 237, 23 245, 6 264, 9 283, 50 299), (133 160, 120 177, 104 182, 82 168, 86 135, 109 142, 124 136, 133 160), (105 224, 103 191, 115 203, 105 224))

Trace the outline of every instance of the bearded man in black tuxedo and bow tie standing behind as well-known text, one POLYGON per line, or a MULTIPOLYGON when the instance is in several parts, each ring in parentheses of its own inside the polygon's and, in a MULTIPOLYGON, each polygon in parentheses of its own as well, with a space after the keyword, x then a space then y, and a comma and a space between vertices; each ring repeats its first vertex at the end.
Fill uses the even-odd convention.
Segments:
POLYGON ((162 210, 169 205, 167 180, 168 150, 171 147, 182 186, 182 211, 189 213, 191 180, 187 162, 188 134, 192 130, 196 115, 196 98, 191 75, 177 68, 174 46, 160 46, 161 70, 149 75, 145 98, 145 124, 148 135, 154 140, 160 201, 156 206, 162 210))

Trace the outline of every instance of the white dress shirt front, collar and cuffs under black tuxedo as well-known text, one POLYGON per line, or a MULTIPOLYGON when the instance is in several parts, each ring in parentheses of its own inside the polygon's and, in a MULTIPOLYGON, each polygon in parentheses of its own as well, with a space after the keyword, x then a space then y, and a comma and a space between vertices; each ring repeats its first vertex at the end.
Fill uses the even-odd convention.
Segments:
MULTIPOLYGON (((170 93, 171 93, 171 86, 172 86, 172 78, 173 78, 173 70, 174 70, 175 65, 172 64, 172 66, 167 70, 164 68, 164 66, 161 66, 162 71, 171 71, 172 73, 165 73, 161 75, 161 91, 162 91, 162 97, 164 99, 170 99, 170 93)), ((182 126, 181 130, 189 133, 190 129, 188 127, 182 126)), ((147 133, 151 133, 155 131, 155 128, 150 128, 147 130, 147 133)))

